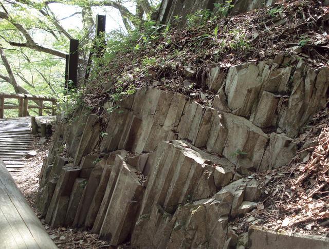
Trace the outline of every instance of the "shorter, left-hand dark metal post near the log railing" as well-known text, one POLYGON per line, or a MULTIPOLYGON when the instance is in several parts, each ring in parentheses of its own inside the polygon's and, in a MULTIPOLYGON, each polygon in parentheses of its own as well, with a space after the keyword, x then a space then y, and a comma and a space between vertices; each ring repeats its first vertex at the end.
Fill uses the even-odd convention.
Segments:
POLYGON ((70 39, 70 54, 68 63, 68 89, 78 86, 79 40, 70 39))

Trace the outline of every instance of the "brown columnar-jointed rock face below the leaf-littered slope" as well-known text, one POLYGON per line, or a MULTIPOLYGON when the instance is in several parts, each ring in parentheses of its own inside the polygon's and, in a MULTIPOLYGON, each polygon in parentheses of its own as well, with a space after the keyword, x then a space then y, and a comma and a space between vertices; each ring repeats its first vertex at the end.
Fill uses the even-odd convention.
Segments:
POLYGON ((250 175, 294 157, 294 137, 325 105, 329 69, 269 60, 223 72, 209 70, 215 97, 205 105, 143 87, 107 102, 116 107, 107 122, 81 108, 73 124, 61 123, 42 169, 38 206, 46 222, 134 248, 247 241, 230 220, 257 207, 261 189, 250 175))

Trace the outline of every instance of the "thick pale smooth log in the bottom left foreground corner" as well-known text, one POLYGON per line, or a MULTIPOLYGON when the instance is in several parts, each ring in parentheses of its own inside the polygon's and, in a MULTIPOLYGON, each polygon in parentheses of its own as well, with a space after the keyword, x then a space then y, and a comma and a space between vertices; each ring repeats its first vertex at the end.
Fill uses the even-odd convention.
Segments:
POLYGON ((2 248, 57 248, 0 161, 0 233, 2 248))

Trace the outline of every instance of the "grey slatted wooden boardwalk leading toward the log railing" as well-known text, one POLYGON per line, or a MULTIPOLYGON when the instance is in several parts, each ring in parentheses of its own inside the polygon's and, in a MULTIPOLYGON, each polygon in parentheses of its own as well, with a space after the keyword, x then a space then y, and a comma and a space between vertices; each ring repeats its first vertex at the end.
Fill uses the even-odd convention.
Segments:
POLYGON ((15 178, 26 164, 26 154, 34 140, 31 117, 0 119, 0 159, 15 178))

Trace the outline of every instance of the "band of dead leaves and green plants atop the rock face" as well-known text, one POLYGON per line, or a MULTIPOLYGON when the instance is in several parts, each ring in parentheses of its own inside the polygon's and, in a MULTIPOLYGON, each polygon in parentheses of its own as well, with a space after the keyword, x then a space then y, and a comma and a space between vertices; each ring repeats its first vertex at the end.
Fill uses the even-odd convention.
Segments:
POLYGON ((187 16, 184 28, 179 27, 180 17, 176 17, 172 25, 146 20, 129 35, 107 33, 106 45, 96 42, 94 48, 104 49, 102 56, 93 58, 80 99, 99 110, 105 101, 118 101, 143 85, 186 93, 182 87, 186 79, 193 85, 189 91, 206 91, 205 77, 211 67, 225 70, 241 62, 268 60, 279 53, 291 56, 291 46, 300 46, 308 61, 326 65, 321 54, 327 48, 321 45, 326 45, 327 39, 316 34, 323 33, 321 18, 327 8, 315 0, 284 3, 229 16, 232 5, 226 1, 215 6, 214 12, 203 10, 187 16), (284 24, 279 23, 282 20, 284 24), (186 69, 194 74, 187 76, 186 69))

